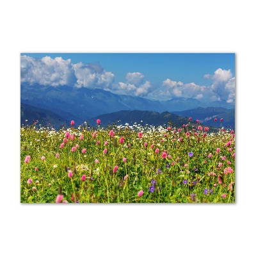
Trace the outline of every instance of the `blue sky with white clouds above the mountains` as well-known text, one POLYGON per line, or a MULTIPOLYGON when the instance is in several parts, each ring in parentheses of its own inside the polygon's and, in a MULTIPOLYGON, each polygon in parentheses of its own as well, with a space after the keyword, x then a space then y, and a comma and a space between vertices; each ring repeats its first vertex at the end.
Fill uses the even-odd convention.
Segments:
POLYGON ((20 82, 168 100, 235 101, 233 53, 22 53, 20 82))

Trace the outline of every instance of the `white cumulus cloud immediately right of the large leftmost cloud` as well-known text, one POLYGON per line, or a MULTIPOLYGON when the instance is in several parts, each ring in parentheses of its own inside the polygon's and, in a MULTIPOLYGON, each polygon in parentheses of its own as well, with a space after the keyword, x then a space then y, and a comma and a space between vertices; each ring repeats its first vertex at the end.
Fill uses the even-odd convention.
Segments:
POLYGON ((101 88, 108 89, 113 83, 115 75, 111 72, 106 72, 99 63, 83 63, 73 64, 77 77, 76 86, 78 88, 101 88))

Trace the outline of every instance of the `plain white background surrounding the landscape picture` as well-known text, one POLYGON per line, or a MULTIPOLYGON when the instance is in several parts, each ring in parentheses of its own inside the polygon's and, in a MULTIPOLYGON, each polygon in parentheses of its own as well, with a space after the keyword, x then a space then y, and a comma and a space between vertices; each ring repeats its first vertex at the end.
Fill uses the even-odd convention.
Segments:
POLYGON ((255 255, 253 1, 166 2, 1 2, 1 255, 255 255), (235 52, 236 204, 20 204, 20 52, 235 52))

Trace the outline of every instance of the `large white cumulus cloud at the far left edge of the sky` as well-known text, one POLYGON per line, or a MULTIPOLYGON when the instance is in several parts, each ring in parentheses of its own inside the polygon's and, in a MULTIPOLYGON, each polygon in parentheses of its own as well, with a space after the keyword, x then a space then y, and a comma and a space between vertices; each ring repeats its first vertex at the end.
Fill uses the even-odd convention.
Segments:
POLYGON ((21 83, 60 86, 75 81, 71 60, 63 60, 61 57, 52 59, 49 56, 42 60, 26 55, 20 57, 21 83))

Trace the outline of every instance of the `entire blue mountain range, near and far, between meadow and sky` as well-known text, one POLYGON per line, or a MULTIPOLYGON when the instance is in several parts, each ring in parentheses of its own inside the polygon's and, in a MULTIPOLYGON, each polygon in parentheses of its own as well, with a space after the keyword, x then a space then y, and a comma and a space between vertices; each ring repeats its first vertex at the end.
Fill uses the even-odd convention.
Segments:
MULTIPOLYGON (((186 120, 188 117, 194 120, 199 119, 202 124, 214 127, 220 127, 218 126, 220 123, 218 125, 217 122, 214 123, 215 116, 223 118, 222 125, 232 127, 234 127, 235 118, 234 105, 227 104, 227 102, 216 101, 202 104, 199 100, 186 98, 173 98, 165 101, 149 100, 131 95, 117 95, 100 89, 92 90, 74 86, 42 86, 41 84, 22 83, 20 84, 20 104, 21 124, 24 124, 24 119, 29 122, 36 119, 49 119, 56 127, 63 124, 69 125, 70 120, 74 120, 76 124, 83 124, 86 120, 92 122, 91 118, 95 120, 99 116, 102 122, 105 118, 113 122, 120 118, 116 116, 120 116, 118 111, 130 111, 127 112, 130 117, 127 116, 125 123, 143 120, 143 124, 150 125, 151 120, 151 124, 156 126, 160 123, 161 125, 167 124, 168 118, 170 119, 168 115, 171 113, 178 117, 186 116, 186 120), (136 110, 141 112, 136 112, 136 110)), ((122 124, 125 124, 123 122, 125 112, 121 114, 122 124)), ((178 123, 183 122, 176 117, 175 120, 178 123)))

